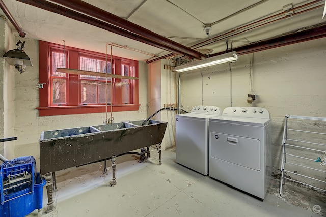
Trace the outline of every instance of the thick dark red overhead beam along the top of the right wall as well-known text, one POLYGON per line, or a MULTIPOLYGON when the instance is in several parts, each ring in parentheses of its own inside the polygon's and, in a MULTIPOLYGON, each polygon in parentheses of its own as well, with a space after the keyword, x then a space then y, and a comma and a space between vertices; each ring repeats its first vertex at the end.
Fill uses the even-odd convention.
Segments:
POLYGON ((267 50, 271 48, 277 48, 281 46, 291 45, 291 44, 319 39, 323 37, 326 37, 326 24, 314 28, 302 30, 300 32, 291 33, 285 36, 267 39, 249 45, 233 48, 227 51, 214 53, 211 54, 210 56, 218 56, 233 51, 237 52, 238 55, 244 55, 248 53, 258 52, 258 51, 267 50))

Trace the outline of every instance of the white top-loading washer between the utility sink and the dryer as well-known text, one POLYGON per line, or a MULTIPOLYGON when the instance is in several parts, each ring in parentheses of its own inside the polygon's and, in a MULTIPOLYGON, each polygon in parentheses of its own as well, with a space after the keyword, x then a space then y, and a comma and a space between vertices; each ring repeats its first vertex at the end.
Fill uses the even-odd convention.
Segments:
POLYGON ((177 163, 208 174, 208 121, 221 112, 216 106, 195 106, 191 113, 176 115, 177 163))

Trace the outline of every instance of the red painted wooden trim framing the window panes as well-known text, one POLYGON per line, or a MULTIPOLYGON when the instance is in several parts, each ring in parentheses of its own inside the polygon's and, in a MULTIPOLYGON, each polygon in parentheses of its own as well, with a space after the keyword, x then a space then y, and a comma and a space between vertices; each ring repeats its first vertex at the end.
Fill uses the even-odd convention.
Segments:
MULTIPOLYGON (((39 110, 39 116, 52 116, 52 115, 66 115, 66 114, 86 114, 86 113, 102 113, 106 111, 105 104, 101 105, 62 105, 62 106, 50 106, 51 105, 51 88, 50 88, 50 48, 59 48, 63 49, 63 45, 54 44, 45 41, 39 41, 39 82, 45 83, 43 88, 39 89, 39 107, 36 109, 39 110)), ((94 56, 105 56, 105 54, 87 51, 79 48, 65 47, 70 51, 73 50, 77 53, 94 55, 94 56)), ((135 69, 135 77, 138 77, 138 61, 131 59, 121 58, 117 56, 112 56, 115 59, 116 74, 121 74, 121 63, 130 62, 132 63, 135 69)), ((70 63, 69 63, 70 64, 70 63)), ((76 66, 69 66, 69 68, 75 68, 76 66)), ((72 75, 76 77, 77 75, 72 75)), ((77 76, 78 77, 78 76, 77 76)), ((117 82, 118 79, 116 79, 117 82)), ((121 80, 121 79, 120 79, 121 80)), ((119 80, 118 80, 119 82, 119 80)), ((133 104, 122 104, 122 97, 118 94, 121 94, 121 91, 115 90, 115 104, 113 107, 113 112, 117 111, 137 111, 139 109, 139 84, 138 80, 131 80, 133 87, 132 91, 132 101, 133 104)), ((69 96, 78 96, 79 89, 72 89, 69 91, 69 96), (73 95, 72 95, 73 94, 73 95)), ((111 105, 107 106, 107 111, 111 112, 111 105)))

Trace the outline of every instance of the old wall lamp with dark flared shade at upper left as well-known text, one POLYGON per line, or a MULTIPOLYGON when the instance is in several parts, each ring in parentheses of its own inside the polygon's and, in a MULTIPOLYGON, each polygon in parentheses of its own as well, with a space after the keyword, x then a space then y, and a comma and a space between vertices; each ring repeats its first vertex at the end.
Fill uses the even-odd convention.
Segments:
POLYGON ((20 73, 26 71, 26 66, 33 66, 30 57, 23 51, 25 42, 17 41, 17 49, 9 50, 3 55, 9 65, 15 66, 20 73))

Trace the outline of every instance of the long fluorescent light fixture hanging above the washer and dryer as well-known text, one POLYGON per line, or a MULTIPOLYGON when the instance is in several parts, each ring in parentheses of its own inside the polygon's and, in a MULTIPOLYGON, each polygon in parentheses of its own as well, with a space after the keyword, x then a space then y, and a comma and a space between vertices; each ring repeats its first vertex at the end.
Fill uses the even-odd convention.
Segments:
POLYGON ((213 56, 199 61, 194 61, 189 64, 174 67, 174 71, 185 72, 193 69, 199 69, 207 66, 213 66, 216 64, 235 62, 238 60, 238 54, 236 52, 225 53, 219 56, 213 56))

